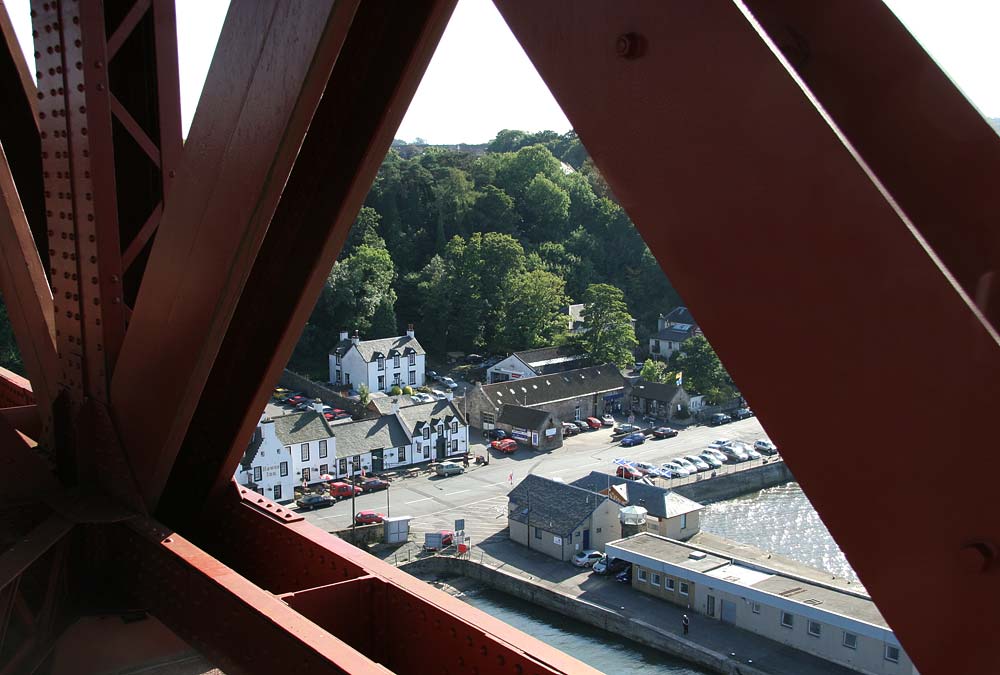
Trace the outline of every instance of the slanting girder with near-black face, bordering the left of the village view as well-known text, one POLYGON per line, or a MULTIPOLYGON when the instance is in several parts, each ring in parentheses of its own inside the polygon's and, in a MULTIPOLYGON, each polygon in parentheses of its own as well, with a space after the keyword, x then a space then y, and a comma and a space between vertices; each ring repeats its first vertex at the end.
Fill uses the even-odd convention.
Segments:
POLYGON ((232 480, 454 4, 355 15, 173 468, 159 514, 172 525, 232 480))

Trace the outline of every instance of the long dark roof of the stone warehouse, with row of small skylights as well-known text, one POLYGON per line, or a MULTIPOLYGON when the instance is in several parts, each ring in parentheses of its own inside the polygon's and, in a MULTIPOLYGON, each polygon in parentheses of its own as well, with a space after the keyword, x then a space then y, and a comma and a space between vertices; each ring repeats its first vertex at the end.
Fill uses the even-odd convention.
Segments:
POLYGON ((567 370, 564 373, 539 375, 483 385, 483 393, 499 408, 504 403, 540 405, 549 401, 578 398, 624 387, 621 371, 613 364, 567 370))

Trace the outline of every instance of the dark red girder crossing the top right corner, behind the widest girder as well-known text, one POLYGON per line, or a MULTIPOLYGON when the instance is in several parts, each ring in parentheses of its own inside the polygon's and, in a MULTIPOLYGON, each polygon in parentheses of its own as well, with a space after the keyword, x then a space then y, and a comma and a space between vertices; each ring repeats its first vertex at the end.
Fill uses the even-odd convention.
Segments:
POLYGON ((884 4, 746 5, 955 280, 1000 326, 1000 136, 884 4))

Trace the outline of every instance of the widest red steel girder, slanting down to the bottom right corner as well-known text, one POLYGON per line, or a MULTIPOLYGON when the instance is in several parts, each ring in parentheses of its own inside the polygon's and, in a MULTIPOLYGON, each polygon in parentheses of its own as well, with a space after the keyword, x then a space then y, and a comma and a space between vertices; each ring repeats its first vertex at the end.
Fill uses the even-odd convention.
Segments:
POLYGON ((954 447, 998 403, 997 336, 968 297, 738 4, 497 5, 920 671, 1000 669, 1000 460, 947 509, 925 498, 933 392, 962 392, 954 447), (816 433, 817 406, 852 442, 816 433), (928 579, 947 596, 918 598, 928 579))

